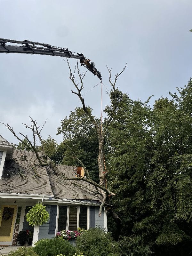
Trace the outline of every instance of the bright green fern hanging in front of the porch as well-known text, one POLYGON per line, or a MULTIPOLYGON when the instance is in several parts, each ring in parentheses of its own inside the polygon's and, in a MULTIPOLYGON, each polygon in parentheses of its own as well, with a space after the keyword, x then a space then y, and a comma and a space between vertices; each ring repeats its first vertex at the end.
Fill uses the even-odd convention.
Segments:
POLYGON ((42 203, 35 204, 26 214, 26 220, 30 226, 42 225, 49 220, 49 213, 46 211, 46 206, 42 203))

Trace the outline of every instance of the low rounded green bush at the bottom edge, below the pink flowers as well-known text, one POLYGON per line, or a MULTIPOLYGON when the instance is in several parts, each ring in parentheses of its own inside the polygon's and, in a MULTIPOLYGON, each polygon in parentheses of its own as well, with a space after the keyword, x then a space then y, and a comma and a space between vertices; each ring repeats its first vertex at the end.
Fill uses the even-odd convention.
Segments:
POLYGON ((64 239, 41 239, 35 243, 34 250, 40 256, 56 256, 64 254, 66 256, 73 256, 76 253, 75 247, 69 244, 64 239))

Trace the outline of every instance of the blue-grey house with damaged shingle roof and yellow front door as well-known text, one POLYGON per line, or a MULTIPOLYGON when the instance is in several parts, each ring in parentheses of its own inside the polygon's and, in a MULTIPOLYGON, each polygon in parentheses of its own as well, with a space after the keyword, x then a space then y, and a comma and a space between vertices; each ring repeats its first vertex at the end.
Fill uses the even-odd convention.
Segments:
MULTIPOLYGON (((81 168, 57 167, 68 178, 83 175, 81 168)), ((50 219, 35 227, 33 243, 63 229, 100 227, 107 231, 105 207, 99 217, 102 195, 98 188, 83 180, 63 180, 49 166, 41 167, 34 152, 17 150, 0 136, 0 245, 16 245, 19 231, 32 230, 25 215, 38 202, 46 205, 50 219)))

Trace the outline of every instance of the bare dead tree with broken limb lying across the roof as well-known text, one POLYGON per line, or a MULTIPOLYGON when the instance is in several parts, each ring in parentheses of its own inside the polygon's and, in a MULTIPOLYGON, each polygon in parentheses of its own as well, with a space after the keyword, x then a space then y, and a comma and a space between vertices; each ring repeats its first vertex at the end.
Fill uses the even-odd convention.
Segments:
MULTIPOLYGON (((89 172, 87 171, 86 167, 84 166, 84 164, 82 163, 82 161, 76 156, 75 152, 66 144, 66 146, 71 150, 74 158, 76 158, 81 165, 84 167, 85 170, 85 177, 76 177, 76 178, 68 178, 65 177, 63 175, 63 173, 60 173, 60 170, 57 168, 56 164, 50 159, 50 157, 46 154, 45 149, 44 149, 44 141, 41 137, 41 131, 46 123, 46 121, 44 122, 42 128, 40 129, 40 127, 37 125, 37 122, 35 120, 33 120, 30 117, 30 121, 31 124, 24 124, 26 128, 28 128, 29 130, 32 131, 33 134, 33 141, 31 142, 31 140, 28 138, 27 134, 23 134, 21 132, 19 132, 19 134, 23 137, 19 137, 13 130, 13 128, 9 125, 9 124, 4 124, 6 126, 6 128, 12 132, 12 134, 23 144, 25 144, 26 146, 28 146, 28 144, 30 145, 30 148, 35 152, 36 158, 40 164, 40 166, 49 166, 53 172, 55 173, 55 175, 58 175, 60 177, 62 177, 62 181, 64 180, 84 180, 90 184, 92 184, 93 186, 95 186, 96 188, 99 188, 102 190, 102 195, 103 195, 103 202, 100 205, 100 211, 99 211, 99 215, 101 214, 102 211, 102 207, 106 204, 106 200, 108 199, 108 195, 111 196, 115 196, 115 193, 111 192, 110 190, 108 190, 108 188, 106 188, 105 186, 105 180, 106 180, 106 176, 108 174, 108 172, 105 170, 105 155, 104 155, 104 140, 105 140, 105 135, 106 135, 106 131, 108 129, 108 126, 110 124, 110 122, 112 121, 115 113, 116 113, 116 108, 118 105, 117 102, 117 92, 118 89, 116 88, 116 81, 118 79, 118 77, 122 74, 122 72, 124 71, 125 67, 123 68, 123 70, 118 74, 116 74, 115 76, 115 80, 114 82, 112 82, 111 80, 111 69, 108 68, 108 72, 109 72, 109 83, 112 86, 112 90, 109 93, 109 97, 111 99, 111 108, 110 110, 108 110, 108 117, 104 120, 104 123, 101 123, 101 120, 97 120, 89 111, 89 108, 86 107, 85 103, 84 103, 84 98, 82 97, 81 91, 84 88, 83 87, 83 79, 85 77, 86 72, 80 73, 79 67, 78 67, 78 62, 77 62, 77 67, 74 69, 74 72, 72 72, 71 67, 69 65, 69 61, 67 60, 68 63, 68 67, 69 67, 69 71, 70 71, 70 76, 69 79, 72 81, 72 83, 74 84, 77 92, 74 92, 73 90, 72 93, 76 94, 79 99, 81 100, 82 106, 83 106, 83 110, 85 112, 85 114, 89 117, 89 119, 91 120, 92 124, 95 126, 96 131, 97 131, 97 135, 98 135, 98 142, 99 142, 99 152, 98 152, 98 166, 99 166, 99 184, 96 183, 95 181, 93 181, 90 176, 89 176, 89 172), (78 83, 78 79, 76 79, 76 72, 78 74, 78 79, 80 79, 80 82, 78 83), (80 84, 80 85, 79 85, 80 84), (36 147, 36 139, 38 139, 41 143, 41 147, 37 148, 36 147), (28 142, 28 144, 27 144, 28 142), (41 155, 39 154, 39 152, 41 153, 41 155)), ((118 219, 118 216, 113 214, 114 216, 116 216, 116 218, 118 219)))

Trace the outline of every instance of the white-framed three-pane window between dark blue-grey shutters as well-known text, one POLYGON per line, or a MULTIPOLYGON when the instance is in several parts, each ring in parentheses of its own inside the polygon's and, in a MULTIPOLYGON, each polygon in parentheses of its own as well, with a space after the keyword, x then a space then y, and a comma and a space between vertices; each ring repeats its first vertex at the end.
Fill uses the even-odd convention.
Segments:
POLYGON ((84 205, 59 205, 57 231, 88 229, 89 207, 84 205))

